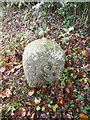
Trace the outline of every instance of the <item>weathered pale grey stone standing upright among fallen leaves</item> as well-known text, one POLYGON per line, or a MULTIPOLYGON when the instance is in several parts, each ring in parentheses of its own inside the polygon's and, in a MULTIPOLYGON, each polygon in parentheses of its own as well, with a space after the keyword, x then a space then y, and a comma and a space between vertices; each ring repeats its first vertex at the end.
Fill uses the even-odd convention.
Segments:
POLYGON ((65 53, 52 40, 42 38, 29 43, 23 53, 23 68, 31 87, 60 80, 65 64, 65 53))

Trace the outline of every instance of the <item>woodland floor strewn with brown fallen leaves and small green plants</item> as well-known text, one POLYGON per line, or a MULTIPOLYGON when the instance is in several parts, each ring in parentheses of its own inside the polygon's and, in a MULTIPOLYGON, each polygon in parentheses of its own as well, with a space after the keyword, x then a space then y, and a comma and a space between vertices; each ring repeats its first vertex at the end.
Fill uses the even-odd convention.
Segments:
POLYGON ((12 10, 4 11, 1 32, 2 120, 90 120, 90 36, 80 23, 65 29, 63 19, 50 11, 12 10), (30 89, 22 54, 43 36, 65 50, 65 69, 60 82, 30 89))

